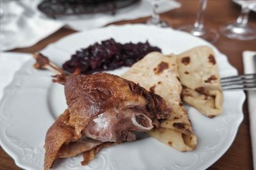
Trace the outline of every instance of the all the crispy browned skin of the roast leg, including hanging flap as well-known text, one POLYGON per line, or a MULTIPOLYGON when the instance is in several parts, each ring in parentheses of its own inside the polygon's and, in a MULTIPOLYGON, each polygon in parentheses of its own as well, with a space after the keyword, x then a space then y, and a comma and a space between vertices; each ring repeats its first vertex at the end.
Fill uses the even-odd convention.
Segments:
MULTIPOLYGON (((141 111, 144 111, 143 114, 147 115, 156 127, 159 125, 159 120, 167 118, 170 113, 163 98, 148 92, 132 81, 113 74, 66 75, 63 78, 58 78, 59 80, 65 85, 68 109, 47 132, 45 170, 49 169, 54 160, 58 158, 72 157, 84 152, 86 152, 86 159, 83 164, 87 164, 95 158, 96 147, 102 148, 105 145, 102 141, 93 139, 88 141, 83 130, 100 113, 116 115, 115 120, 113 120, 115 122, 119 118, 118 114, 124 114, 126 108, 144 108, 141 111), (90 157, 88 157, 89 153, 90 157)), ((116 127, 115 129, 122 128, 116 127)), ((109 129, 109 131, 111 130, 113 129, 109 129)), ((117 142, 120 140, 127 141, 129 140, 127 134, 131 134, 130 131, 132 132, 134 129, 124 129, 121 133, 113 133, 113 135, 121 134, 115 138, 117 142)), ((132 140, 134 139, 132 138, 132 140)))

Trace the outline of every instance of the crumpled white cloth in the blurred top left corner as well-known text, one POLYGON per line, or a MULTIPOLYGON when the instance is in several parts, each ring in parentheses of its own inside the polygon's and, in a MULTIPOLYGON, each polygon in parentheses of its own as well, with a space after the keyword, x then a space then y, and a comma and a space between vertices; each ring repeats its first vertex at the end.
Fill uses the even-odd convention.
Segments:
MULTIPOLYGON (((37 1, 38 2, 38 1, 37 1)), ((1 1, 0 51, 35 45, 63 24, 42 17, 36 1, 1 1)))

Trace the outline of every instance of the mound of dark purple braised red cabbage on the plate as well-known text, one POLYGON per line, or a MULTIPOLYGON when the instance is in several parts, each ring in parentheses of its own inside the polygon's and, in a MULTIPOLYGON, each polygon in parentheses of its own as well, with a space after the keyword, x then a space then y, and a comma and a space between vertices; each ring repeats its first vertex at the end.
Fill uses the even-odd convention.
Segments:
POLYGON ((63 69, 74 73, 77 69, 81 73, 113 70, 122 66, 132 66, 150 52, 161 52, 156 46, 145 43, 117 43, 114 39, 95 43, 77 51, 63 64, 63 69))

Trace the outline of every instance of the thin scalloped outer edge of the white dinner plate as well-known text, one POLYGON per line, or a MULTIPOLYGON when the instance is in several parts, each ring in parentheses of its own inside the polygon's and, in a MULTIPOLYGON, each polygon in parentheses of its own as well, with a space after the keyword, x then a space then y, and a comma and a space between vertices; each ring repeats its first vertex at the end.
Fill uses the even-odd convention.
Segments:
MULTIPOLYGON (((108 27, 104 27, 104 28, 100 28, 100 29, 113 29, 113 28, 114 29, 116 29, 116 28, 120 29, 120 27, 154 27, 154 26, 145 26, 145 25, 142 25, 142 24, 125 24, 125 25, 109 25, 108 27)), ((156 27, 154 27, 154 28, 156 28, 156 27)), ((167 29, 167 28, 165 28, 165 29, 167 29)), ((97 30, 99 30, 99 29, 97 29, 97 30)), ((173 32, 182 32, 182 31, 175 31, 175 30, 172 30, 170 28, 169 28, 169 30, 173 31, 173 32)), ((91 30, 91 31, 95 31, 95 30, 91 30)), ((60 41, 63 41, 65 39, 69 39, 70 37, 73 37, 73 36, 77 36, 77 34, 83 34, 84 32, 90 32, 90 31, 76 32, 74 34, 70 34, 68 36, 65 36, 64 38, 61 38, 58 41, 47 45, 44 48, 44 50, 48 49, 48 48, 51 48, 51 47, 58 48, 58 43, 60 41)), ((182 34, 187 34, 187 36, 191 36, 190 34, 188 34, 186 32, 182 32, 182 34)), ((207 42, 205 41, 205 43, 207 43, 207 42)), ((207 43, 207 44, 209 44, 209 43, 207 43)), ((212 45, 209 44, 209 46, 212 46, 212 45)), ((220 51, 218 51, 216 49, 216 47, 214 47, 214 49, 216 50, 216 52, 218 52, 218 55, 220 55, 224 60, 227 61, 227 65, 230 68, 236 70, 236 74, 237 74, 237 69, 228 62, 227 56, 224 55, 223 53, 221 53, 220 51)), ((31 62, 31 60, 28 60, 26 63, 23 64, 23 66, 25 66, 29 62, 31 62)), ((17 71, 17 73, 15 73, 15 76, 17 76, 17 74, 19 74, 18 71, 17 71)), ((13 78, 15 76, 13 76, 13 78)), ((8 89, 11 89, 13 81, 15 81, 15 80, 13 79, 12 82, 4 88, 4 95, 3 95, 3 97, 2 97, 2 99, 0 101, 0 106, 4 105, 3 101, 6 99, 6 97, 8 97, 8 89)), ((206 169, 207 167, 209 167, 212 164, 214 164, 214 162, 216 162, 218 159, 220 159, 220 157, 225 152, 227 152, 228 148, 230 148, 230 146, 234 142, 234 139, 236 138, 237 131, 239 129, 239 125, 241 124, 241 122, 243 121, 243 118, 244 118, 244 115, 243 115, 243 104, 244 104, 246 96, 245 96, 244 92, 241 92, 241 94, 243 94, 243 95, 241 95, 241 97, 239 98, 239 102, 237 102, 238 103, 237 108, 239 108, 239 111, 237 111, 237 115, 239 115, 239 117, 234 118, 234 121, 232 122, 232 126, 231 126, 233 128, 233 129, 231 129, 231 131, 233 131, 232 132, 233 135, 230 136, 230 140, 227 141, 226 145, 220 150, 220 152, 218 152, 218 153, 216 153, 214 155, 214 158, 211 158, 211 160, 208 160, 206 164, 204 163, 204 166, 202 166, 202 169, 206 169)), ((4 115, 4 111, 2 109, 3 108, 0 107, 0 117, 3 118, 6 115, 4 115)), ((1 122, 1 120, 0 120, 0 122, 1 122)), ((17 154, 17 152, 15 152, 15 148, 13 148, 12 146, 8 145, 8 143, 4 142, 3 134, 4 134, 4 131, 6 129, 2 128, 2 125, 0 125, 0 127, 1 127, 0 131, 1 131, 1 134, 2 134, 2 135, 0 135, 0 145, 2 146, 3 150, 6 153, 8 153, 13 158, 13 160, 15 161, 15 164, 17 164, 17 166, 19 166, 21 168, 24 168, 24 169, 31 169, 31 166, 29 164, 24 164, 24 162, 22 162, 20 160, 19 154, 17 154)), ((7 137, 5 137, 5 138, 7 138, 7 137)))

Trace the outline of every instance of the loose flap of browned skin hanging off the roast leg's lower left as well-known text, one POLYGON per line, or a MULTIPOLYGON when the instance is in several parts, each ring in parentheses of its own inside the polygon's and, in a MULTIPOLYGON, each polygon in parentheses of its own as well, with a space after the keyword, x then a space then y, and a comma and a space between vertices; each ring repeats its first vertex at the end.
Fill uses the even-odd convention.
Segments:
POLYGON ((79 153, 87 152, 102 144, 100 141, 79 140, 74 128, 68 125, 70 113, 65 110, 56 122, 49 128, 45 138, 45 164, 49 169, 58 158, 72 157, 79 153))

